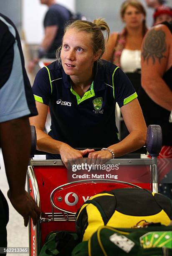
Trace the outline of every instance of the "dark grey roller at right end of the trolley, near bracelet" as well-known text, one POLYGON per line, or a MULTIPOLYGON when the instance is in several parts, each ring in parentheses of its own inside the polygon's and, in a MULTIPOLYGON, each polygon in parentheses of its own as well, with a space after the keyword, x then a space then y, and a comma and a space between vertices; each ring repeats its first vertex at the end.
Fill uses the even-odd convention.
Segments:
POLYGON ((147 128, 147 151, 150 156, 159 156, 162 148, 162 130, 160 125, 149 125, 147 128))

